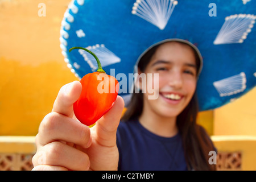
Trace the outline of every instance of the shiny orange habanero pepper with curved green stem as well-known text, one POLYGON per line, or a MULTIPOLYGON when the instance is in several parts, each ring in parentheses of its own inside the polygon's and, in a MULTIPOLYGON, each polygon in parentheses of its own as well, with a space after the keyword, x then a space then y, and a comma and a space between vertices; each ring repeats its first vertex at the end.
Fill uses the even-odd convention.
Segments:
POLYGON ((80 80, 82 92, 79 99, 73 104, 76 118, 84 125, 90 126, 111 109, 117 98, 119 83, 115 77, 106 74, 101 67, 100 60, 92 51, 83 47, 72 47, 69 52, 73 49, 83 49, 89 52, 98 64, 96 72, 88 73, 80 80), (104 92, 102 92, 102 88, 104 88, 104 92))

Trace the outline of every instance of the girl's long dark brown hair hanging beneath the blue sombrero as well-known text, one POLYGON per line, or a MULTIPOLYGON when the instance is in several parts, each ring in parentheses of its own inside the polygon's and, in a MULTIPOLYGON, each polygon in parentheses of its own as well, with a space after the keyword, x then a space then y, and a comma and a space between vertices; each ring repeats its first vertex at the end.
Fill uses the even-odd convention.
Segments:
MULTIPOLYGON (((141 60, 138 63, 138 68, 142 72, 144 72, 144 69, 150 62, 152 55, 154 55, 158 47, 159 45, 152 47, 141 57, 141 60)), ((195 53, 198 72, 200 67, 200 58, 194 49, 193 52, 195 53)), ((127 106, 127 110, 125 111, 125 114, 123 114, 121 120, 128 121, 137 119, 142 114, 142 110, 143 94, 142 92, 135 93, 131 96, 130 104, 127 106)), ((176 125, 183 140, 183 148, 187 166, 188 169, 195 170, 216 170, 216 166, 211 165, 208 162, 209 151, 213 151, 214 147, 203 127, 197 125, 196 123, 198 112, 199 106, 195 92, 187 107, 185 107, 185 109, 177 116, 176 119, 176 125)))

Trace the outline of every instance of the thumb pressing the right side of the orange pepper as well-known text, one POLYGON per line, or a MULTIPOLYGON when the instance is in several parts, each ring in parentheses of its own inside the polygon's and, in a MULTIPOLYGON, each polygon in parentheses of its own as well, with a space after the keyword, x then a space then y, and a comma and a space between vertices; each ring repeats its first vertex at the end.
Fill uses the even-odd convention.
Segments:
POLYGON ((102 116, 95 127, 96 140, 102 146, 112 147, 116 144, 117 127, 119 125, 125 102, 117 96, 112 108, 102 116))

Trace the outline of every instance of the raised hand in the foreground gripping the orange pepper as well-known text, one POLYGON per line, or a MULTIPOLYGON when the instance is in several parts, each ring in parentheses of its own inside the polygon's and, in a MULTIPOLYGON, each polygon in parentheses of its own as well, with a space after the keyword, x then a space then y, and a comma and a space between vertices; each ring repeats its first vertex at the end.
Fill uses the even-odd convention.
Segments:
POLYGON ((118 96, 112 109, 89 128, 73 114, 73 103, 79 98, 81 89, 79 81, 60 89, 52 112, 40 123, 33 170, 117 169, 116 131, 123 99, 118 96))

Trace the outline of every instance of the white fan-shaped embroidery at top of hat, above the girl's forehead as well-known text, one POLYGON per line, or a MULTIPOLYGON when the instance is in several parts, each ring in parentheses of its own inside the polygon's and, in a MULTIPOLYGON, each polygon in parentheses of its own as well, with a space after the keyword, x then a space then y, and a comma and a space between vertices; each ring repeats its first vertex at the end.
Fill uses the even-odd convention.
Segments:
POLYGON ((131 13, 163 30, 177 3, 175 0, 137 0, 131 13))

